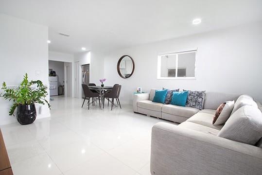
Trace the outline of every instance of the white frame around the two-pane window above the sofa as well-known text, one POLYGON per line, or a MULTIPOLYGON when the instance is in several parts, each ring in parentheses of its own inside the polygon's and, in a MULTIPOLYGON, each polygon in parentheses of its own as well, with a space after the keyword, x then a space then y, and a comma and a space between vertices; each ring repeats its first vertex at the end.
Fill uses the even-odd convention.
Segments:
POLYGON ((173 51, 167 53, 159 53, 157 56, 157 79, 164 79, 164 80, 195 80, 196 79, 196 61, 197 61, 197 48, 194 49, 187 49, 184 51, 173 51), (195 53, 195 70, 194 70, 194 77, 177 77, 177 70, 178 70, 178 54, 184 53, 195 53), (161 57, 168 56, 168 55, 176 55, 175 59, 175 77, 161 77, 161 57))

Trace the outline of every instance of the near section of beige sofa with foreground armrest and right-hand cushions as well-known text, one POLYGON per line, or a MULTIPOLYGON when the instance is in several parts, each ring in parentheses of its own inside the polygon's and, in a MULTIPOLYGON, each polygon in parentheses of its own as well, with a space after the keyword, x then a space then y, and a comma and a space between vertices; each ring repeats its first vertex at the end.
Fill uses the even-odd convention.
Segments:
POLYGON ((179 125, 157 123, 152 128, 151 174, 261 175, 260 106, 241 95, 225 124, 212 124, 214 109, 203 109, 179 125))

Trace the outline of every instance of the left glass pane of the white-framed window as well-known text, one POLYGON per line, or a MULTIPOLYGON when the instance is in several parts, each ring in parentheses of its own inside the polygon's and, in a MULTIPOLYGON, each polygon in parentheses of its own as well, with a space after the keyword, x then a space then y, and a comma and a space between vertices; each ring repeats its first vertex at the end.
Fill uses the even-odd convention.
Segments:
POLYGON ((161 77, 175 77, 176 54, 161 56, 161 77))

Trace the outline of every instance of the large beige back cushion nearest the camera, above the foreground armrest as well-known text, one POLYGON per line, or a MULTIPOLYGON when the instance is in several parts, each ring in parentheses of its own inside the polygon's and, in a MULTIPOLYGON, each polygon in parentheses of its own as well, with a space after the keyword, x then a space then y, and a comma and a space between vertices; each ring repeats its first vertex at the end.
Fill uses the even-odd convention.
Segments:
POLYGON ((261 111, 251 105, 240 107, 229 117, 217 136, 255 145, 262 137, 261 111))

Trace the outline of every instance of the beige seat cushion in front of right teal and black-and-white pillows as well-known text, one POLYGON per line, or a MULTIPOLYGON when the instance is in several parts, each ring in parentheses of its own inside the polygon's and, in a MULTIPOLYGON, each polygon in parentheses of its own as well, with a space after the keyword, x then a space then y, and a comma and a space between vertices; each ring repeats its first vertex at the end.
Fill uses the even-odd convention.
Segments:
POLYGON ((194 107, 186 107, 186 106, 178 106, 178 105, 164 105, 162 107, 162 112, 167 113, 167 114, 172 114, 176 116, 181 116, 181 117, 191 117, 195 113, 200 111, 197 108, 194 107))

